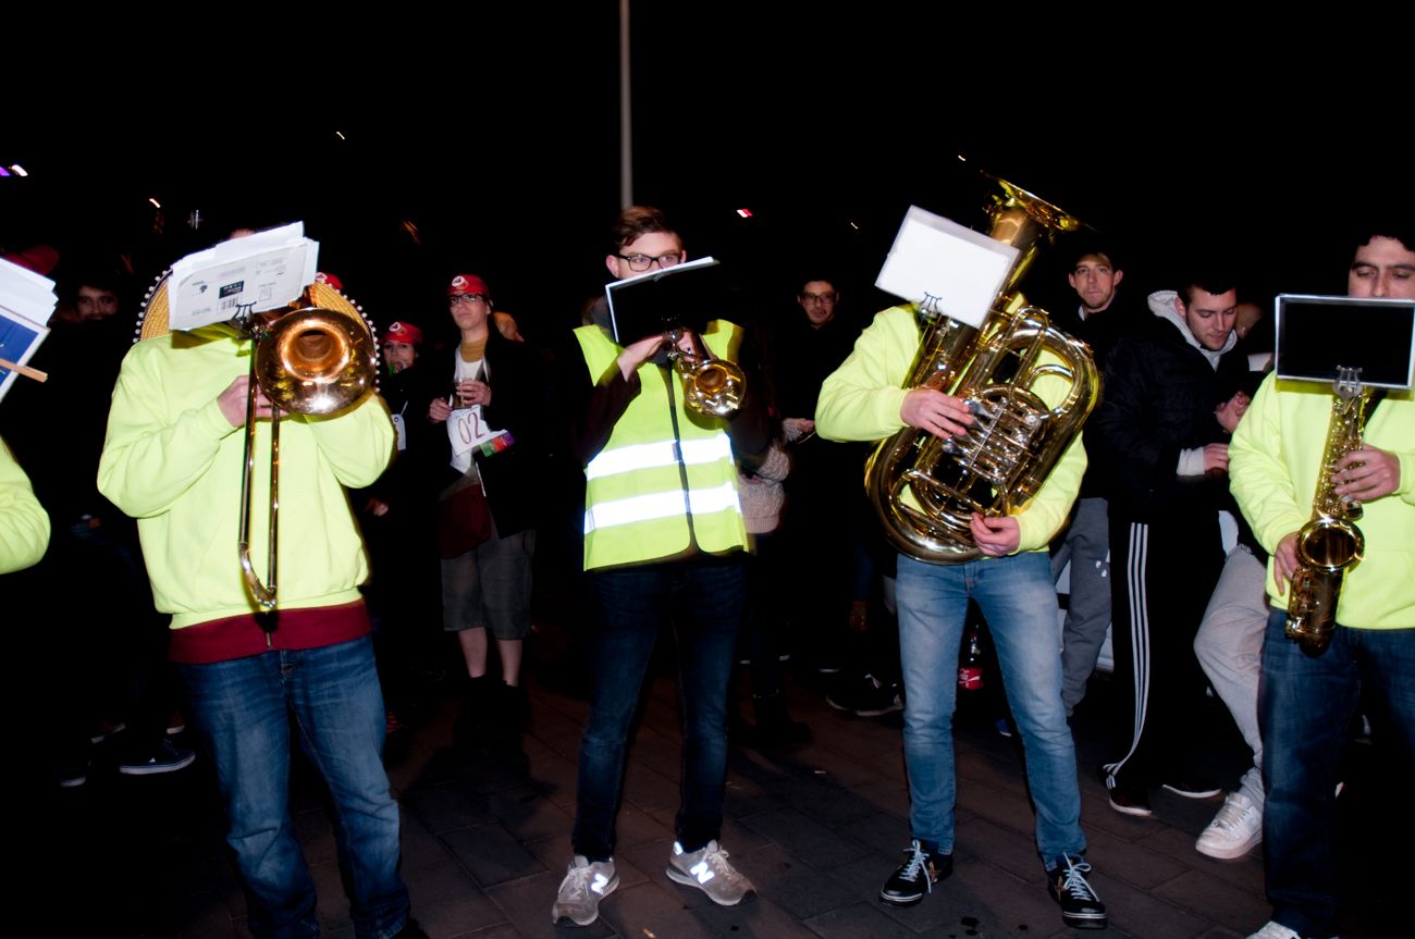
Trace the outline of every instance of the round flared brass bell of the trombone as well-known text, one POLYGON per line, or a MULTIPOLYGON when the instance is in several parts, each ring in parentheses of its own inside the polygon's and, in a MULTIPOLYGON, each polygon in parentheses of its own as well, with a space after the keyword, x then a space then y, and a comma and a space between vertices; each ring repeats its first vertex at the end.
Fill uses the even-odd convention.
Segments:
POLYGON ((256 344, 256 380, 270 403, 296 414, 335 414, 359 402, 376 369, 362 317, 306 307, 280 317, 256 344))

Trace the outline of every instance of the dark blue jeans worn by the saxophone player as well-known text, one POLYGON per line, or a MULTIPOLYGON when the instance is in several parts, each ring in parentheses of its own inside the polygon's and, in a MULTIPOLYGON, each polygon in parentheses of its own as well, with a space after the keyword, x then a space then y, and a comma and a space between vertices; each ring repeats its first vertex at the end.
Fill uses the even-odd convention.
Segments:
POLYGON ((1374 741, 1388 747, 1395 789, 1395 850, 1408 846, 1407 783, 1415 754, 1415 628, 1347 629, 1309 658, 1283 636, 1286 611, 1274 608, 1262 646, 1258 727, 1268 802, 1262 813, 1272 918, 1305 936, 1337 932, 1337 864, 1333 846, 1336 783, 1358 699, 1365 696, 1374 741), (1407 782, 1401 782, 1401 779, 1407 782), (1404 819, 1401 817, 1404 816, 1404 819), (1402 824, 1404 822, 1404 824, 1402 824))

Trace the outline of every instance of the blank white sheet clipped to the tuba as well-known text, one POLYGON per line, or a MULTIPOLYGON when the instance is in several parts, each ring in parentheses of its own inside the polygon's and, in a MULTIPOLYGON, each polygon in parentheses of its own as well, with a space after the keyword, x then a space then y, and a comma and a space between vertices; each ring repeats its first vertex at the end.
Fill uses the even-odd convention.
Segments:
POLYGON ((924 313, 978 327, 1017 255, 1012 245, 911 205, 874 286, 924 313))

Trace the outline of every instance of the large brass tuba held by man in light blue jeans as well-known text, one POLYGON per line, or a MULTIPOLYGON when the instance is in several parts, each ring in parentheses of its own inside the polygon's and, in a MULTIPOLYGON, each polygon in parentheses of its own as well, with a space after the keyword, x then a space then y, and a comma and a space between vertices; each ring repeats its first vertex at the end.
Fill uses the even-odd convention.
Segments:
POLYGON ((978 328, 916 307, 921 341, 904 380, 904 387, 962 399, 974 424, 947 440, 906 427, 876 447, 865 471, 890 543, 934 564, 981 556, 969 530, 972 513, 1003 516, 1036 495, 1099 395, 1090 348, 1054 328, 1047 313, 1026 305, 1016 290, 1040 246, 1081 222, 1006 180, 989 178, 1000 191, 988 209, 988 235, 1016 247, 1017 259, 978 328), (1049 376, 1067 382, 1056 407, 1032 390, 1049 376))

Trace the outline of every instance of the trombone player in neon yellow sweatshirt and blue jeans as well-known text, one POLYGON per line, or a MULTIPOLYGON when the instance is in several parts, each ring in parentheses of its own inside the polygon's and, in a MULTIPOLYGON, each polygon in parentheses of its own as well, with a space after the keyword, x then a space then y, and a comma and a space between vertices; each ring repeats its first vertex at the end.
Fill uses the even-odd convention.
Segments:
MULTIPOLYGON (((134 344, 113 390, 99 489, 137 519, 153 597, 171 615, 170 655, 215 761, 252 932, 320 932, 289 806, 293 714, 334 802, 355 935, 412 939, 423 933, 398 873, 385 711, 358 593, 368 561, 344 495, 388 467, 393 426, 376 395, 325 417, 282 414, 280 458, 297 471, 283 474, 279 610, 260 614, 235 550, 252 354, 229 322, 134 344)), ((272 406, 263 393, 252 400, 265 453, 272 406)), ((272 468, 256 464, 265 492, 272 468)), ((259 549, 265 513, 255 515, 259 549)))

